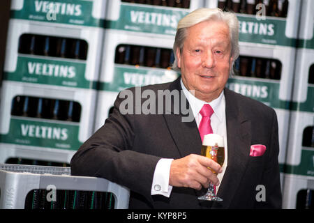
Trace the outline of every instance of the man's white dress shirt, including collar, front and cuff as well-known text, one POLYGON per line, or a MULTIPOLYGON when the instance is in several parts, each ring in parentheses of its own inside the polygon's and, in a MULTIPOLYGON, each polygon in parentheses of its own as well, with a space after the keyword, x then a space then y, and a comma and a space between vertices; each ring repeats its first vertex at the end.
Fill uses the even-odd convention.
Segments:
MULTIPOLYGON (((217 175, 219 182, 221 182, 227 167, 227 125, 225 120, 225 95, 222 92, 218 98, 208 103, 195 98, 195 96, 186 89, 182 79, 181 88, 184 91, 184 95, 186 96, 188 103, 190 104, 197 128, 200 125, 200 121, 202 119, 200 110, 202 109, 203 105, 209 104, 214 110, 214 114, 211 115, 211 128, 215 134, 220 134, 223 136, 225 141, 225 162, 223 163, 223 172, 217 175)), ((169 185, 169 177, 172 160, 173 159, 160 159, 156 164, 153 183, 151 185, 151 195, 161 194, 165 197, 170 197, 172 186, 169 185)), ((219 186, 216 187, 217 192, 218 189, 219 186)))

